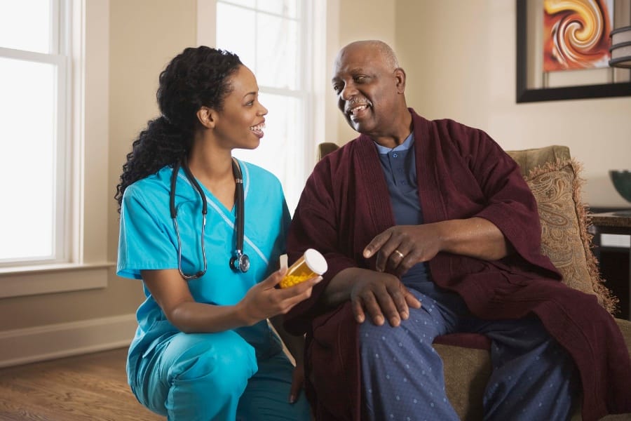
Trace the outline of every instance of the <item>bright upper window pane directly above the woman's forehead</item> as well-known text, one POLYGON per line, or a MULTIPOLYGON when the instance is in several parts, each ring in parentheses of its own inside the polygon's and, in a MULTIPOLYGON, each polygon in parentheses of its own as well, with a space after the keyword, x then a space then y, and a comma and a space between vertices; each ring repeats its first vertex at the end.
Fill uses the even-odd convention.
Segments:
POLYGON ((217 47, 236 53, 256 74, 255 25, 254 11, 217 3, 217 47))

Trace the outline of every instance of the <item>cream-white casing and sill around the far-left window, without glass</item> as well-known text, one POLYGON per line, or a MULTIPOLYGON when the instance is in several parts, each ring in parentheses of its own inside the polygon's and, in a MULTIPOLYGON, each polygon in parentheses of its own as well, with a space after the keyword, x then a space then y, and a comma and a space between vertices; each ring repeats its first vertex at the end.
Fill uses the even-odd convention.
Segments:
POLYGON ((58 113, 60 145, 65 149, 60 151, 64 169, 57 175, 63 212, 58 216, 61 235, 56 241, 62 253, 50 262, 0 267, 0 298, 104 288, 114 266, 107 259, 104 223, 113 207, 107 161, 109 0, 55 3, 60 4, 57 10, 67 29, 67 43, 62 46, 67 54, 58 59, 67 66, 59 85, 64 89, 60 97, 66 100, 61 100, 58 113))

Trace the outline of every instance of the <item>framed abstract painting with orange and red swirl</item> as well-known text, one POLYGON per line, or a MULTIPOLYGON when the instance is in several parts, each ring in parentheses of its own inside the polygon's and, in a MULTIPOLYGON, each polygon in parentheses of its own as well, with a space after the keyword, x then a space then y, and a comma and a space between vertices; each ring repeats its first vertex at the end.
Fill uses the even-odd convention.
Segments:
POLYGON ((631 95, 631 69, 609 66, 609 34, 628 0, 516 0, 517 102, 631 95))

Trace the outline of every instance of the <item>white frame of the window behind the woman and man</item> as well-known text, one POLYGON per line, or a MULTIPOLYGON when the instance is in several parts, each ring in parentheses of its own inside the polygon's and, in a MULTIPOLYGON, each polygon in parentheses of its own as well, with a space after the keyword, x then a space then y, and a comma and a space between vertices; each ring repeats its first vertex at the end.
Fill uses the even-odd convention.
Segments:
MULTIPOLYGON (((227 0, 229 1, 229 0, 227 0)), ((302 119, 304 121, 304 144, 297 147, 301 155, 294 161, 301 168, 295 174, 297 180, 293 185, 283 182, 283 189, 293 213, 295 205, 304 187, 304 182, 311 174, 316 160, 317 145, 325 141, 325 88, 326 82, 326 45, 327 45, 327 1, 302 0, 304 10, 301 11, 301 88, 273 88, 259 85, 261 93, 301 98, 304 104, 302 119)), ((197 1, 197 43, 198 45, 216 46, 215 22, 217 22, 217 0, 197 1)), ((238 54, 238 51, 235 51, 238 54)), ((283 180, 281 180, 282 182, 283 180)))

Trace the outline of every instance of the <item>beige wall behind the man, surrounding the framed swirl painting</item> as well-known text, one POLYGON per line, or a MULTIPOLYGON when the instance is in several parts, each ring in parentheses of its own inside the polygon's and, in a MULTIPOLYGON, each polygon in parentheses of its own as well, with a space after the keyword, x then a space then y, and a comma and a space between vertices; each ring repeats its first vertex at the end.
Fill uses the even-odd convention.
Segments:
POLYGON ((396 27, 416 112, 482 128, 504 149, 567 145, 585 202, 629 206, 607 171, 631 168, 631 98, 516 104, 515 1, 398 0, 396 27))

